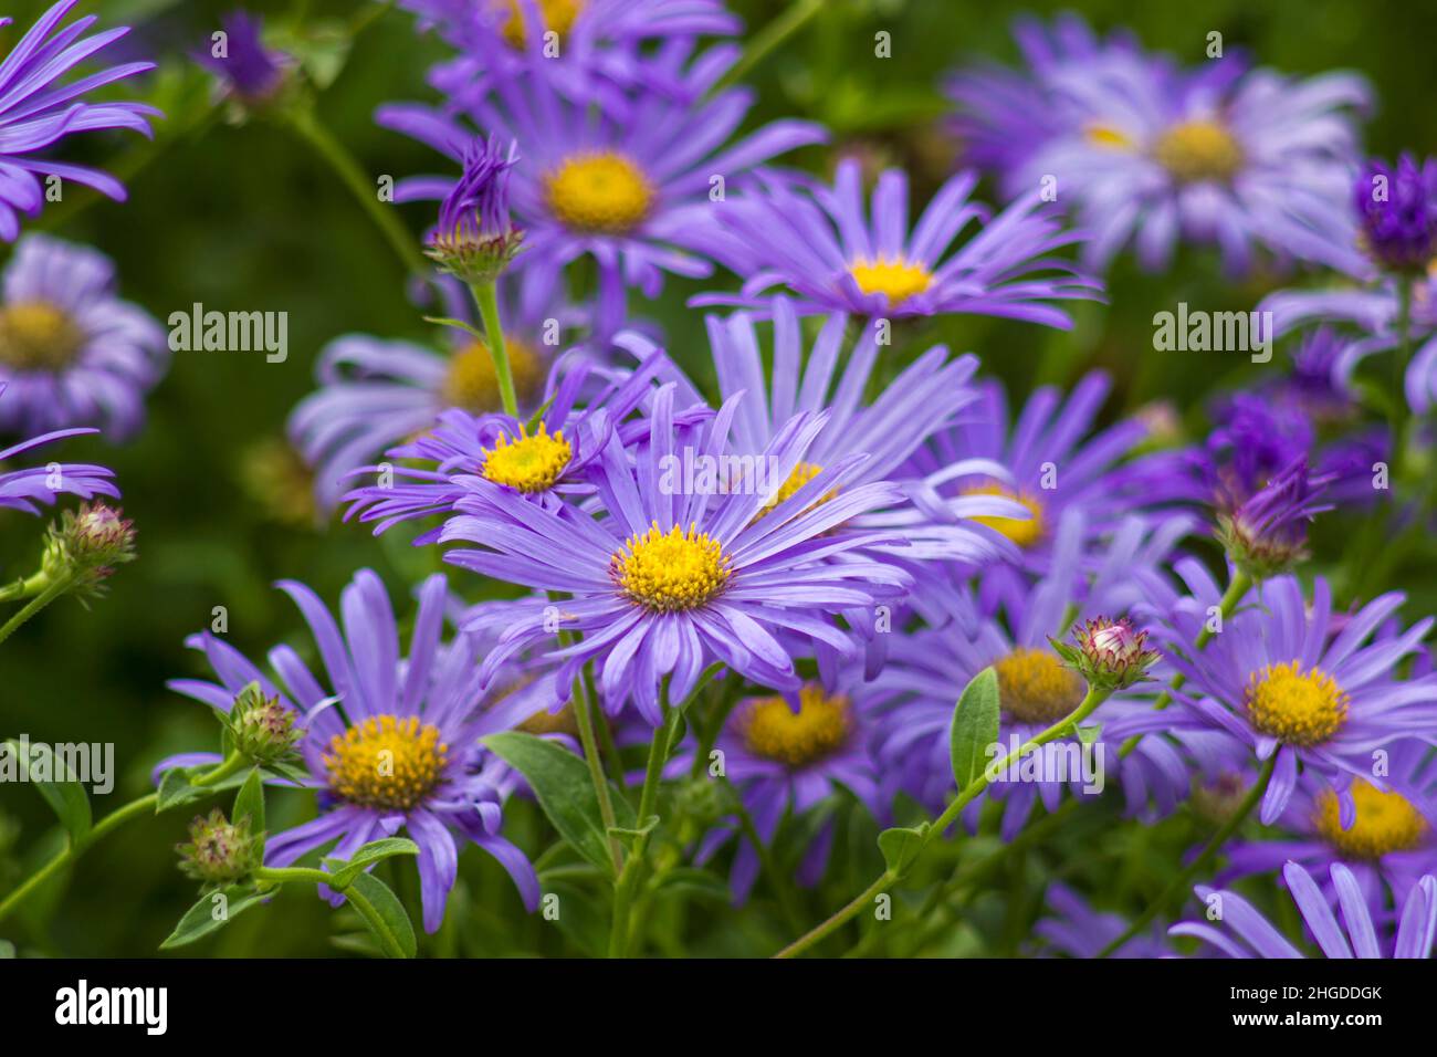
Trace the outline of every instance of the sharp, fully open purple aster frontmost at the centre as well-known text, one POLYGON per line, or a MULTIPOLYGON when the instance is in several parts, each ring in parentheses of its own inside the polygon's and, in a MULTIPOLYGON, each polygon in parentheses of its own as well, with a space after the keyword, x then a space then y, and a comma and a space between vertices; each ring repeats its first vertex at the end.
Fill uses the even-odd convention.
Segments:
MULTIPOLYGON (((660 682, 667 676, 670 700, 681 702, 714 660, 760 686, 798 690, 802 680, 776 633, 852 654, 849 637, 829 614, 871 610, 911 585, 885 562, 849 555, 891 536, 829 535, 859 513, 895 503, 900 493, 887 483, 854 486, 861 462, 845 459, 766 513, 769 496, 757 488, 675 495, 660 467, 683 449, 717 462, 737 411, 731 400, 717 416, 685 424, 674 416, 673 387, 660 388, 647 446, 631 453, 614 436, 591 467, 604 519, 573 508, 549 511, 494 489, 458 503, 461 515, 444 525, 440 539, 477 548, 451 549, 444 559, 568 594, 556 604, 560 626, 583 633, 583 640, 549 656, 565 662, 565 686, 585 662, 596 662, 609 712, 632 700, 657 725, 660 682), (849 558, 832 561, 841 555, 849 558)), ((773 439, 763 457, 776 467, 775 479, 793 473, 823 424, 822 416, 799 414, 773 439)), ((550 639, 552 613, 540 600, 516 603, 486 669, 550 639)))

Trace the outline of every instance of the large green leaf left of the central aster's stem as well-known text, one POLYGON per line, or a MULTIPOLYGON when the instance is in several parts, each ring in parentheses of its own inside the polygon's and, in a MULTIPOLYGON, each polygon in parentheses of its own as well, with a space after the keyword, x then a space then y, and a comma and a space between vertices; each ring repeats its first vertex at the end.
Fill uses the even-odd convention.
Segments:
MULTIPOLYGON (((581 856, 612 871, 599 801, 582 759, 555 742, 519 731, 491 733, 484 745, 529 779, 553 828, 581 856)), ((634 828, 634 810, 624 800, 614 801, 614 813, 619 827, 634 828)))

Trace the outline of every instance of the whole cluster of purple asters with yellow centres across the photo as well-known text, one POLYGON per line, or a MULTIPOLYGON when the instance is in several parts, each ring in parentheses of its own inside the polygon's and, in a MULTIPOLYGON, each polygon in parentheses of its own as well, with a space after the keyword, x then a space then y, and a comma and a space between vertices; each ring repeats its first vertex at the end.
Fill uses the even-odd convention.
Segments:
MULTIPOLYGON (((60 27, 72 6, 0 65, 7 240, 46 180, 124 194, 45 148, 147 132, 154 114, 85 101, 148 63, 60 83, 124 32, 60 27)), ((734 902, 764 871, 813 884, 844 811, 885 827, 953 802, 954 702, 992 672, 1013 756, 956 830, 1012 843, 1111 784, 1144 823, 1233 830, 1193 880, 1280 880, 1302 919, 1279 930, 1198 883, 1226 913, 1129 926, 1055 886, 1036 949, 1427 956, 1433 618, 1303 568, 1335 508, 1408 534, 1430 516, 1407 485, 1437 398, 1437 163, 1359 154, 1359 76, 1292 78, 1220 47, 1184 63, 1072 16, 1023 20, 1020 66, 946 82, 963 158, 920 207, 900 168, 800 168, 829 142, 819 124, 752 125, 753 93, 727 76, 741 24, 718 0, 401 6, 448 50, 428 102, 375 115, 434 151, 395 201, 437 203, 415 298, 443 329, 428 345, 336 337, 289 431, 320 508, 453 571, 415 585, 402 618, 368 569, 333 611, 283 581, 312 646, 263 666, 190 640, 213 676, 177 692, 236 722, 260 693, 295 726, 276 781, 313 790, 318 814, 267 837, 267 869, 402 833, 428 932, 467 844, 535 909, 539 848, 504 814, 543 802, 542 782, 484 741, 520 731, 586 756, 595 795, 631 815, 628 771, 651 745, 639 807, 655 782, 688 791, 660 823, 684 861, 727 864, 734 902), (948 315, 1071 328, 1069 302, 1104 301, 1118 255, 1167 272, 1180 246, 1234 276, 1345 283, 1259 305, 1290 362, 1219 397, 1206 436, 1171 408, 1114 418, 1099 371, 1010 400, 983 372, 996 351, 924 337, 948 315), (706 286, 688 305, 707 349, 671 347, 645 315, 675 278, 706 286), (1403 378, 1381 414, 1359 372, 1378 354, 1403 378), (1075 713, 1081 732, 1062 726, 1075 713), (1015 758, 1030 739, 1061 752, 1015 758), (684 814, 694 782, 718 790, 701 825, 684 814)), ((226 93, 283 105, 295 63, 256 20, 226 24, 230 50, 204 58, 226 93)), ((42 436, 0 459, 138 429, 165 342, 109 262, 29 234, 3 288, 0 429, 42 436)), ((114 486, 95 466, 0 476, 7 506, 57 492, 114 486)), ((155 777, 217 762, 188 754, 155 777)), ((625 833, 615 857, 642 857, 648 830, 625 833)), ((618 871, 616 915, 628 883, 618 871)))

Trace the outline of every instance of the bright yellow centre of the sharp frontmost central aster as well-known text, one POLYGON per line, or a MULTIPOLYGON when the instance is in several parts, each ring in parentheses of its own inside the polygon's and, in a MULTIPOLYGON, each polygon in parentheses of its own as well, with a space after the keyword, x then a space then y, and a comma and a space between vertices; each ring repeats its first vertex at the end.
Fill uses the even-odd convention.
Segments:
POLYGON ((641 536, 629 536, 609 559, 609 575, 629 601, 654 613, 697 610, 729 582, 729 555, 696 525, 667 534, 658 522, 641 536))

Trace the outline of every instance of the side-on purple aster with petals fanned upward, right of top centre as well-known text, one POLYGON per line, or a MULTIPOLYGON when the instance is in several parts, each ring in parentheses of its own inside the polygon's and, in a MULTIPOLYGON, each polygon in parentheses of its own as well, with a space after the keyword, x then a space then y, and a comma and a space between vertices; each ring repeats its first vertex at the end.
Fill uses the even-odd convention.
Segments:
POLYGON ((1049 302, 1099 299, 1101 285, 1053 250, 1081 239, 1038 194, 997 216, 970 200, 976 173, 958 173, 908 232, 908 175, 885 170, 864 210, 861 165, 838 165, 833 187, 767 173, 760 186, 710 209, 711 252, 744 279, 737 293, 704 293, 694 305, 766 308, 775 288, 792 290, 802 314, 930 316, 950 312, 1072 326, 1049 302), (954 239, 977 223, 971 239, 954 239))

